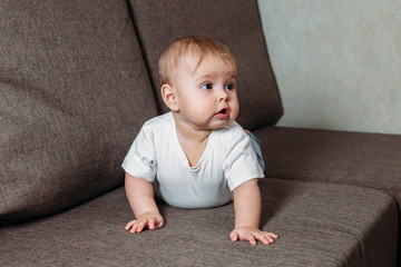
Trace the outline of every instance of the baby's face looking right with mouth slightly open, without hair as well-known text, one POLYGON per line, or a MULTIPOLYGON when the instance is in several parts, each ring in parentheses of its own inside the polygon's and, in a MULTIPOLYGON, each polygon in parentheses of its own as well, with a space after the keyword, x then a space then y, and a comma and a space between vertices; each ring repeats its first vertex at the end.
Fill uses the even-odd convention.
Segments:
POLYGON ((219 129, 238 116, 236 67, 213 55, 198 61, 197 55, 187 55, 174 71, 177 118, 198 130, 219 129))

